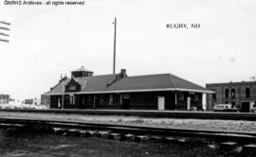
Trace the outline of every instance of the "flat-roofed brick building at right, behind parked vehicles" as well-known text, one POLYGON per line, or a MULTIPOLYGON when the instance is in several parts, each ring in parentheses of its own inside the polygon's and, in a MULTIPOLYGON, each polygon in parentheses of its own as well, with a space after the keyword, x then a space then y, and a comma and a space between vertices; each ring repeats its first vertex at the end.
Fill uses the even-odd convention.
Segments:
POLYGON ((241 81, 229 83, 211 83, 206 85, 213 92, 207 96, 207 108, 212 110, 216 104, 232 104, 241 112, 249 113, 256 108, 256 81, 241 81))

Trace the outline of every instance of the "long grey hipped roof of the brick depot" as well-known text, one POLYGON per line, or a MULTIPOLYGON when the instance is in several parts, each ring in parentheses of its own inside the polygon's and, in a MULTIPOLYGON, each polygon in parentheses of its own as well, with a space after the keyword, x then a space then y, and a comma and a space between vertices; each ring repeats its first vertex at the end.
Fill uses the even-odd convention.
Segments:
MULTIPOLYGON (((81 92, 78 94, 103 94, 103 93, 130 93, 130 92, 154 92, 154 91, 189 91, 199 93, 211 93, 204 87, 194 84, 186 79, 178 78, 172 74, 145 75, 120 78, 111 85, 117 75, 102 75, 94 77, 74 78, 81 84, 81 92)), ((62 95, 63 89, 70 78, 59 82, 45 95, 62 95)))

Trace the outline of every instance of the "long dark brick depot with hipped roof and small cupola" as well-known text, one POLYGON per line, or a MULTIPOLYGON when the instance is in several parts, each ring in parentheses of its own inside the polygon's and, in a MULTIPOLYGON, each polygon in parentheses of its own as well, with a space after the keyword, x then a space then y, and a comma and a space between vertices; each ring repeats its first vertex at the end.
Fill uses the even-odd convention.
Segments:
POLYGON ((42 96, 51 109, 202 110, 203 94, 211 93, 172 74, 93 76, 82 67, 42 96))

